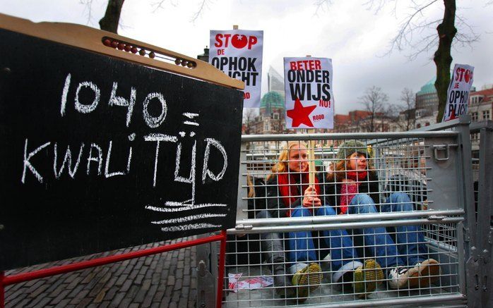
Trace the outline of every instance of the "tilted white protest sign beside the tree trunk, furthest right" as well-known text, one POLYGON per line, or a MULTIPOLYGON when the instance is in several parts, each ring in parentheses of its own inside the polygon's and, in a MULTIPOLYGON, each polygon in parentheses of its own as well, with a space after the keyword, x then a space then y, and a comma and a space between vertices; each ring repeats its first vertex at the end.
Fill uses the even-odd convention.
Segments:
POLYGON ((447 104, 442 122, 453 120, 468 112, 469 91, 473 85, 474 67, 456 64, 447 90, 447 104))

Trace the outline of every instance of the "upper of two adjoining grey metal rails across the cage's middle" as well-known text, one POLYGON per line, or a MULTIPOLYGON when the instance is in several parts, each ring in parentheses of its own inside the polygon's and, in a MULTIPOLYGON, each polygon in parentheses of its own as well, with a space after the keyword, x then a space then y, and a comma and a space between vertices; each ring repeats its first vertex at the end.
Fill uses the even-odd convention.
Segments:
MULTIPOLYGON (((461 216, 464 214, 463 209, 454 210, 427 210, 427 211, 401 211, 394 213, 382 214, 359 214, 359 215, 334 215, 334 216, 314 216, 314 217, 289 217, 289 218, 262 218, 262 219, 244 219, 237 221, 237 226, 271 226, 271 225, 292 225, 292 224, 316 224, 316 223, 334 223, 349 221, 368 221, 381 219, 398 219, 413 217, 430 217, 430 216, 461 216)), ((433 218, 433 217, 432 217, 433 218)))

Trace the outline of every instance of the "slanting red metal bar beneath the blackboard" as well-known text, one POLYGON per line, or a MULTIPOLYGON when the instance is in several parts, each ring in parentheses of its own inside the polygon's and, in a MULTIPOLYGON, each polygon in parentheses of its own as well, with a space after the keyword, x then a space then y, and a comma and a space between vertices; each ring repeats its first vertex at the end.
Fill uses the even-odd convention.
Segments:
POLYGON ((103 257, 88 261, 82 261, 74 264, 56 266, 49 269, 41 269, 39 271, 31 271, 29 273, 20 273, 18 275, 4 276, 4 285, 12 285, 14 283, 22 283, 24 281, 32 281, 33 279, 44 278, 47 276, 54 276, 60 273, 69 273, 71 271, 78 271, 80 269, 88 269, 90 267, 105 265, 109 263, 125 261, 128 259, 134 259, 139 257, 149 256, 151 254, 158 254, 160 252, 167 252, 170 250, 178 250, 180 248, 191 247, 195 245, 204 244, 206 242, 215 242, 222 239, 222 235, 213 235, 208 238, 200 238, 196 240, 189 240, 186 242, 179 242, 172 245, 163 245, 160 247, 150 248, 148 250, 140 250, 137 252, 129 252, 126 254, 118 254, 116 256, 103 257))

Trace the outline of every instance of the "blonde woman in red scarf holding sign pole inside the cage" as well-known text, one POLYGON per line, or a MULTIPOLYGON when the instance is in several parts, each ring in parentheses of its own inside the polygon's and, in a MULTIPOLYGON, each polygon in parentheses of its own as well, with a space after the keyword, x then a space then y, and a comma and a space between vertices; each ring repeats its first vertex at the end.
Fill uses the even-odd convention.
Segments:
MULTIPOLYGON (((304 142, 288 142, 271 171, 266 183, 268 209, 259 211, 256 218, 289 217, 293 213, 302 216, 304 207, 320 206, 320 199, 316 197, 316 192, 320 191, 319 185, 309 187, 307 146, 304 142)), ((289 233, 288 260, 284 235, 261 234, 261 248, 266 263, 273 264, 274 285, 278 294, 304 301, 309 292, 319 288, 322 273, 314 251, 311 251, 311 257, 293 253, 300 249, 302 242, 307 241, 306 235, 301 236, 304 239, 297 239, 295 233, 289 233)))

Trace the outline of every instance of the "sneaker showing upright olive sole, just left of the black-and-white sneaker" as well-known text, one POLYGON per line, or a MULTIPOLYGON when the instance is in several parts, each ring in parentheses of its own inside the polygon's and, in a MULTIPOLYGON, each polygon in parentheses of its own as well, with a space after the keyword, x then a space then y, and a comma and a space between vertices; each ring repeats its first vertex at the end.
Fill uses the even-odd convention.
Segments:
POLYGON ((384 271, 380 265, 374 259, 368 259, 353 272, 352 288, 357 297, 364 298, 376 290, 383 280, 384 271))

